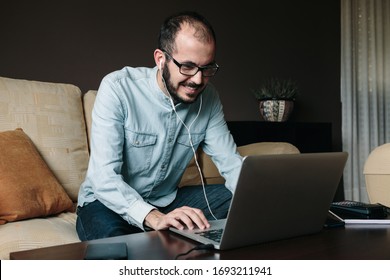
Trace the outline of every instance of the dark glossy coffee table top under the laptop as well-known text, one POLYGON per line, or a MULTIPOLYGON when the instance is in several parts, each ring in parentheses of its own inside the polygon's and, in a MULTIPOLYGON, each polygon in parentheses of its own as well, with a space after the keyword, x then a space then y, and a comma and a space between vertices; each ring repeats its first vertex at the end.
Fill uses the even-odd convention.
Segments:
MULTIPOLYGON (((151 231, 126 236, 78 242, 28 251, 13 252, 10 259, 82 260, 91 243, 126 242, 128 258, 137 260, 175 259, 198 245, 169 231, 151 231)), ((367 260, 390 259, 390 225, 346 225, 320 233, 262 243, 233 250, 192 251, 180 259, 267 259, 267 260, 367 260)))

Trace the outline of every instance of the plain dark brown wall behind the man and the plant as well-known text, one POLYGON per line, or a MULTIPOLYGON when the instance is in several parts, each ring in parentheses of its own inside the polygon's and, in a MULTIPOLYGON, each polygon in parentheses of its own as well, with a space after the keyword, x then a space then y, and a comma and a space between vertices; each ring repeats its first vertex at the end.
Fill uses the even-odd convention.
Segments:
POLYGON ((97 89, 129 66, 154 66, 163 19, 196 10, 214 25, 227 120, 259 120, 251 89, 267 77, 298 81, 291 121, 331 122, 341 149, 340 3, 303 1, 6 1, 0 8, 0 76, 97 89))

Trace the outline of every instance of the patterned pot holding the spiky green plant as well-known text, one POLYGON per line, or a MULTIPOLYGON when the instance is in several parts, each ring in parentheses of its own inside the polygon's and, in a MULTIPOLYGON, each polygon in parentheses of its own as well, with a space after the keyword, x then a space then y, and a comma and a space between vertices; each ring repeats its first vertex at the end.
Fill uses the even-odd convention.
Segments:
POLYGON ((260 100, 260 115, 268 122, 284 122, 288 120, 294 108, 293 100, 260 100))

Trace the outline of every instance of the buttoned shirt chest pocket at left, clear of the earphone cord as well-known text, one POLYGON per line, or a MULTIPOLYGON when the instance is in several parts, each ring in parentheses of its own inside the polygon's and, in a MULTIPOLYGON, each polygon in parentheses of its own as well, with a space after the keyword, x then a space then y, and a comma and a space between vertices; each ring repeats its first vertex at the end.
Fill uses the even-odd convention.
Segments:
POLYGON ((142 172, 150 168, 157 135, 134 132, 125 129, 126 163, 130 173, 142 172))

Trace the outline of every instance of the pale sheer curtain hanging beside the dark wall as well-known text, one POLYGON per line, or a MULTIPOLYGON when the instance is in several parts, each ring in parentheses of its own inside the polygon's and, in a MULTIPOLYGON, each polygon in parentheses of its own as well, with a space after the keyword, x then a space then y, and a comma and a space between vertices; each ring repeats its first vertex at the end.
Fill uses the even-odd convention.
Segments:
POLYGON ((390 0, 341 0, 345 199, 368 202, 364 163, 390 142, 390 0))

